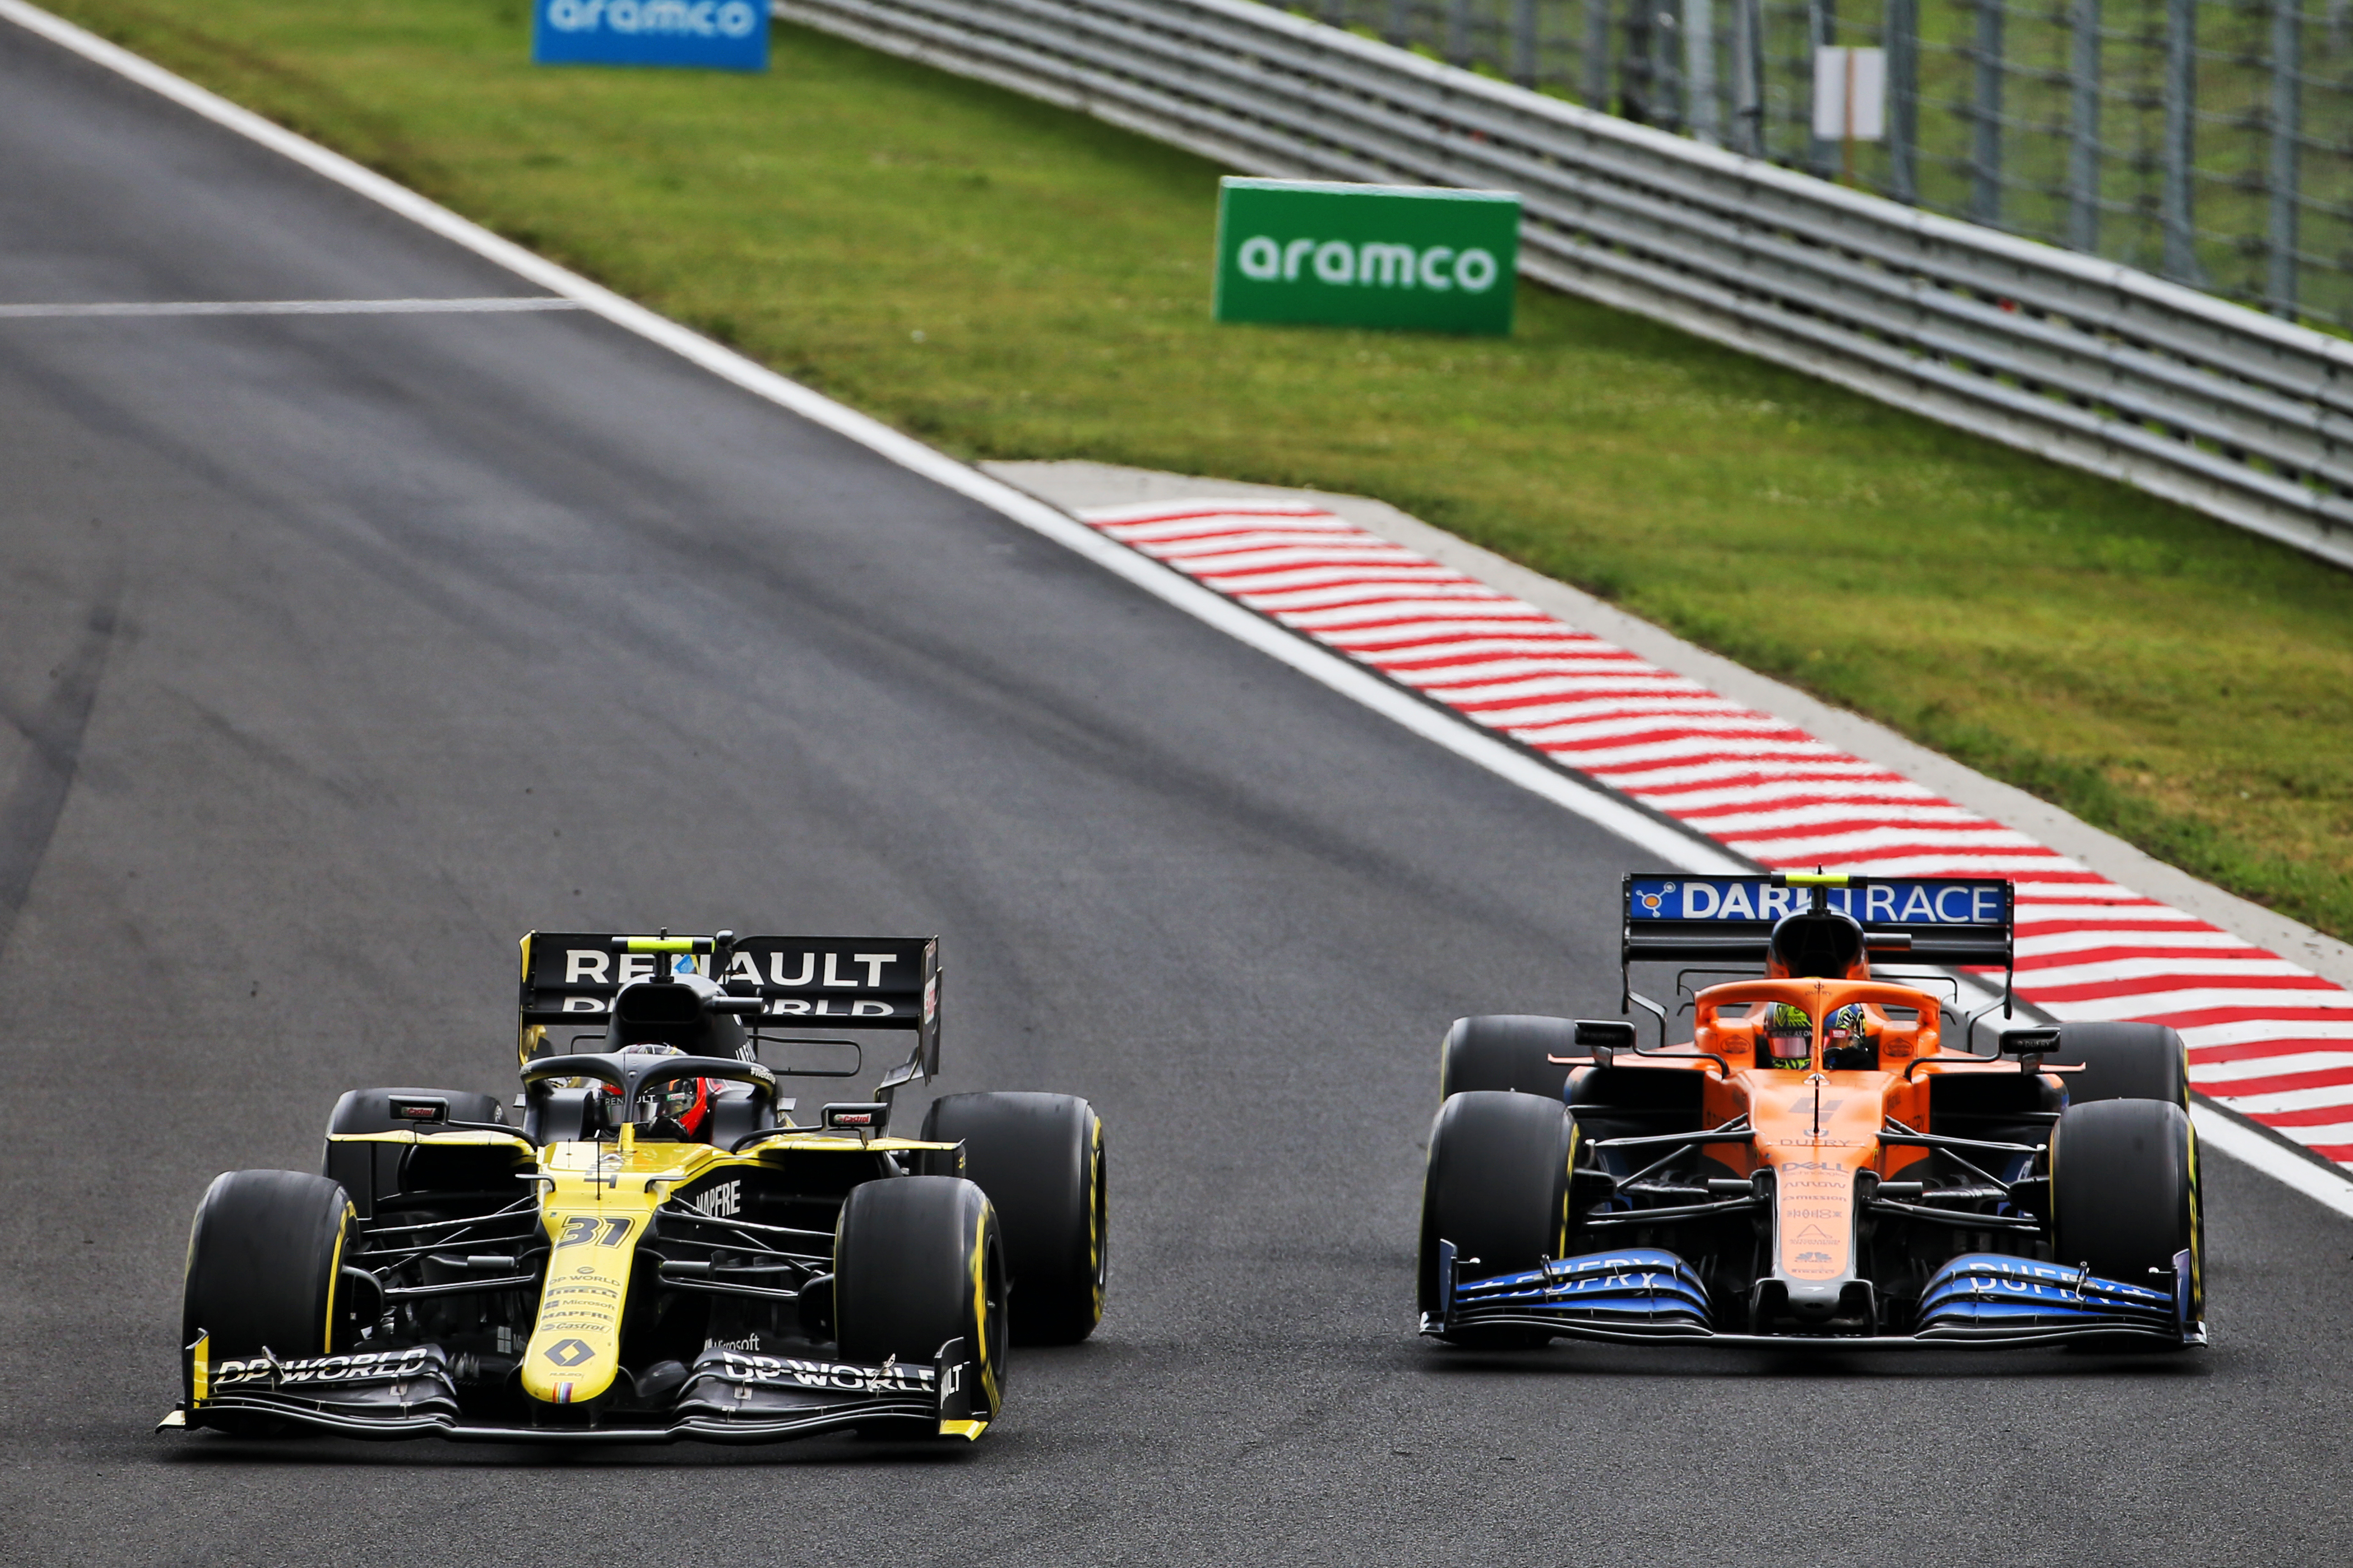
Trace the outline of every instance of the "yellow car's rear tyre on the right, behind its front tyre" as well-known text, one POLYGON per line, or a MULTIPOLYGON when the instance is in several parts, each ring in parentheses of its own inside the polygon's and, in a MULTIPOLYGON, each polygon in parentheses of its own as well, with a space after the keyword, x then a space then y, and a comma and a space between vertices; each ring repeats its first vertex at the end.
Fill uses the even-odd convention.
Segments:
POLYGON ((932 1100, 922 1138, 965 1145, 1005 1234, 1016 1345, 1075 1345, 1104 1321, 1111 1211, 1104 1119, 1075 1095, 967 1093, 932 1100))

